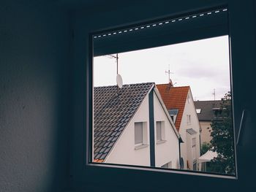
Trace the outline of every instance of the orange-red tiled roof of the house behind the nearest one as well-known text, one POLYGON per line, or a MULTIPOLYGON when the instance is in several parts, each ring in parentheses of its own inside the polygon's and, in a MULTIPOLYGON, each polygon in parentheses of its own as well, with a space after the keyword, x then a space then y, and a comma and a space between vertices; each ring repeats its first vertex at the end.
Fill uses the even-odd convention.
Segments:
POLYGON ((167 110, 178 110, 175 126, 179 130, 181 126, 181 118, 186 104, 189 86, 170 87, 170 84, 157 85, 157 89, 161 94, 162 100, 165 103, 167 110))

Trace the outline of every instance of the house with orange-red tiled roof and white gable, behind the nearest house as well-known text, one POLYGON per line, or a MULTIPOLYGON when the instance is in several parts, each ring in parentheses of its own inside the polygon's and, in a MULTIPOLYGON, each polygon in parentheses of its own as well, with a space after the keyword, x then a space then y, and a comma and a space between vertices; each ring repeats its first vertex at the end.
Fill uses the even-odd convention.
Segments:
POLYGON ((173 87, 171 83, 157 85, 157 88, 184 141, 181 144, 184 169, 197 170, 197 158, 200 157, 200 124, 191 90, 189 86, 173 87))

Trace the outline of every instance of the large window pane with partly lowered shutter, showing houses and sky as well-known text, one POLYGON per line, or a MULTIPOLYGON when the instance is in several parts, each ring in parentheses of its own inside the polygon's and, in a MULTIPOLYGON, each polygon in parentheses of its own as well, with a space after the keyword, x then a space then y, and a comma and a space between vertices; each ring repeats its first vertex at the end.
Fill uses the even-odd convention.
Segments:
POLYGON ((235 174, 226 21, 217 9, 93 36, 91 161, 235 174), (211 38, 178 36, 202 23, 211 38))

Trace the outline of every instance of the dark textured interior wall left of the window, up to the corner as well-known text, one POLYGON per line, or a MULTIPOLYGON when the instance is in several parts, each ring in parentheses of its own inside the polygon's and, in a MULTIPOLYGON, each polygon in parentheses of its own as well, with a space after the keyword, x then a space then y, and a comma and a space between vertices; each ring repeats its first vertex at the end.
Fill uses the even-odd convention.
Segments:
POLYGON ((1 1, 0 191, 67 188, 69 15, 1 1))

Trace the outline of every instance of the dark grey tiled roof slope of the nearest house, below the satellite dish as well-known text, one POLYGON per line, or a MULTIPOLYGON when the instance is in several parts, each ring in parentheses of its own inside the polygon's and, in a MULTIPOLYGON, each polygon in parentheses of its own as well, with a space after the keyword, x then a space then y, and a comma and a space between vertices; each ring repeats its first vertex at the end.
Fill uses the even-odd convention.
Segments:
POLYGON ((107 157, 154 82, 94 88, 94 162, 107 157))

